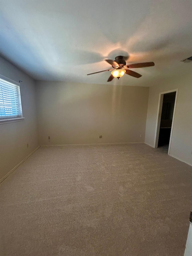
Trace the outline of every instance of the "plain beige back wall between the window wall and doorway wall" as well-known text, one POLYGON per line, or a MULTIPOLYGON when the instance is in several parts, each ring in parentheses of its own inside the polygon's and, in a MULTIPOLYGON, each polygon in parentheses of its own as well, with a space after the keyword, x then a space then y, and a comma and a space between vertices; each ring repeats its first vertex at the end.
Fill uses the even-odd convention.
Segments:
POLYGON ((144 141, 149 87, 48 81, 36 87, 40 145, 144 141))

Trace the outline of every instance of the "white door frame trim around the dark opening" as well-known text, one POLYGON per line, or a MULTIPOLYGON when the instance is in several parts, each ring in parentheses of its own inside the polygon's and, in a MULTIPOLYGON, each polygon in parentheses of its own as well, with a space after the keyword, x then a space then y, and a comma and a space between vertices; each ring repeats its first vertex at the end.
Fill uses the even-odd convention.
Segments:
POLYGON ((156 120, 156 128, 155 128, 155 140, 154 140, 154 148, 157 148, 158 147, 158 140, 159 140, 160 123, 161 123, 161 113, 162 113, 162 106, 163 106, 163 96, 164 96, 164 94, 167 94, 167 93, 170 93, 170 92, 176 92, 176 95, 175 95, 175 104, 174 104, 174 110, 173 110, 173 119, 172 119, 172 125, 171 125, 171 134, 170 134, 168 155, 170 154, 170 149, 171 149, 171 140, 172 140, 172 134, 173 134, 173 125, 174 125, 174 119, 175 119, 178 88, 170 90, 170 91, 166 91, 166 92, 160 92, 160 94, 159 94, 157 120, 156 120))

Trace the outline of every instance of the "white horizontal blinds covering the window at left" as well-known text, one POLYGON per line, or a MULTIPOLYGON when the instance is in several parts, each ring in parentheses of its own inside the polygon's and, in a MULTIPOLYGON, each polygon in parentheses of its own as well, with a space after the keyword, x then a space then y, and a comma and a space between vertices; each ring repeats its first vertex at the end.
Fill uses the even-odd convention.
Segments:
POLYGON ((0 78, 0 119, 22 117, 20 87, 0 78))

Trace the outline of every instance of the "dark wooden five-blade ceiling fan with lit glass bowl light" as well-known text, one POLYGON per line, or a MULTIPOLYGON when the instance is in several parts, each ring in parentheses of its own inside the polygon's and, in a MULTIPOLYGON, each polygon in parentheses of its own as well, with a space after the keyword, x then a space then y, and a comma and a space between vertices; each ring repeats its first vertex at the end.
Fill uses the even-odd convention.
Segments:
POLYGON ((114 77, 119 79, 124 74, 139 78, 142 75, 138 74, 135 71, 129 70, 129 68, 144 68, 144 67, 151 67, 151 66, 155 65, 154 62, 144 62, 144 63, 135 63, 135 64, 126 65, 126 62, 123 59, 123 56, 117 56, 117 57, 115 57, 115 60, 105 59, 105 61, 107 61, 109 64, 111 64, 112 68, 106 69, 103 71, 99 71, 99 72, 95 72, 95 73, 91 73, 91 74, 87 74, 87 75, 97 74, 97 73, 101 73, 101 72, 105 72, 105 71, 111 71, 111 75, 110 75, 109 79, 107 80, 107 82, 112 81, 114 77))

